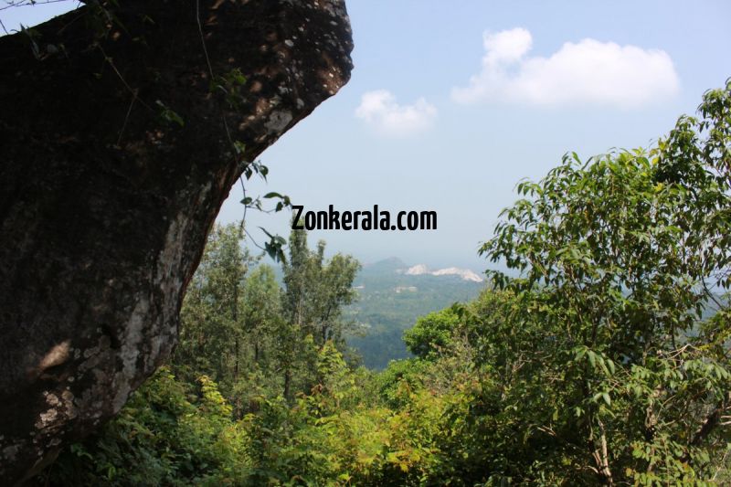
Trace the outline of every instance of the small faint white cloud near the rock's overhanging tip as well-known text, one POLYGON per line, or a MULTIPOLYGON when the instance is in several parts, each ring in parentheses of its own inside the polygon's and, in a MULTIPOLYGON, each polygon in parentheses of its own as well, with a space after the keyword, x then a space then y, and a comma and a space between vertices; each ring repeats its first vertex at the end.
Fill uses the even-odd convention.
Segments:
POLYGON ((437 109, 423 98, 412 105, 399 105, 388 90, 368 91, 361 97, 355 116, 386 135, 404 136, 429 129, 437 109))

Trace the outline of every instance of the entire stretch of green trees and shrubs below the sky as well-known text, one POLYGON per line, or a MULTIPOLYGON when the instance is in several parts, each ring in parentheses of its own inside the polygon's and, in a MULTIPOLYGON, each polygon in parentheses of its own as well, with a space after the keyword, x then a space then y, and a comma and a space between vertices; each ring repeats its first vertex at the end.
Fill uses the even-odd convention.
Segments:
POLYGON ((295 230, 280 285, 214 228, 170 362, 36 482, 731 483, 731 80, 651 147, 516 189, 480 249, 508 271, 381 372, 344 341, 358 261, 295 230))

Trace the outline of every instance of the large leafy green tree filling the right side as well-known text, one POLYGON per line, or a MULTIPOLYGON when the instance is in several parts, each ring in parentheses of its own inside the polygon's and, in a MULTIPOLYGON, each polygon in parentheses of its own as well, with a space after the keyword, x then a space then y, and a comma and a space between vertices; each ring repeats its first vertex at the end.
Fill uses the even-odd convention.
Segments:
POLYGON ((540 183, 518 185, 526 198, 482 246, 520 272, 493 274, 516 301, 484 327, 487 363, 512 372, 501 408, 530 445, 511 447, 506 475, 713 477, 731 438, 731 323, 719 296, 731 283, 731 80, 699 111, 649 151, 587 163, 567 154, 540 183))

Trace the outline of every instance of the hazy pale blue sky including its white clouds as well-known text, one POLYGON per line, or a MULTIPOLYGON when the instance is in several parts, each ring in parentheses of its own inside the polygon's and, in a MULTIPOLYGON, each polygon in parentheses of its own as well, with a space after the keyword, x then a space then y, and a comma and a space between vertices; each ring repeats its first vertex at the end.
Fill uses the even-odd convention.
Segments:
MULTIPOLYGON (((0 5, 2 2, 0 2, 0 5)), ((75 2, 0 11, 34 25, 75 2)), ((347 0, 352 79, 260 155, 305 210, 434 210, 437 230, 313 231, 364 263, 482 271, 481 242, 517 196, 576 151, 647 147, 731 77, 731 2, 347 0)), ((218 221, 243 214, 235 186, 218 221)), ((286 236, 288 214, 247 225, 286 236)))

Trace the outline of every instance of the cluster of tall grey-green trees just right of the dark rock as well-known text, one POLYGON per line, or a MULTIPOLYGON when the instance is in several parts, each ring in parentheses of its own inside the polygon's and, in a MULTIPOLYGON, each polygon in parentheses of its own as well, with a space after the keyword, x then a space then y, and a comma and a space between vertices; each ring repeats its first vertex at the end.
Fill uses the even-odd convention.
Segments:
POLYGON ((359 269, 350 256, 324 258, 324 242, 307 247, 292 231, 284 287, 267 265, 241 247, 235 225, 214 228, 185 296, 180 344, 172 370, 188 384, 210 376, 240 418, 261 394, 288 400, 318 380, 317 350, 332 341, 344 350, 342 316, 353 302, 359 269))

